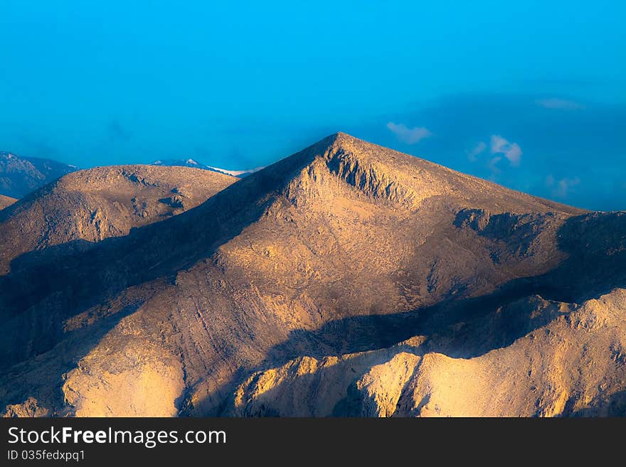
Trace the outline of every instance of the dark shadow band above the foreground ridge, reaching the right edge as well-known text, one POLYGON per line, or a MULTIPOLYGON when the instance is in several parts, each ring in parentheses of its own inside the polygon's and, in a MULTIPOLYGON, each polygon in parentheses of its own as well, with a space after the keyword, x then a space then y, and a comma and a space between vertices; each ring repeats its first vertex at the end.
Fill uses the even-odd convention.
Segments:
MULTIPOLYGON (((575 305, 615 287, 626 287, 623 232, 626 213, 571 218, 558 232, 558 246, 568 259, 551 272, 514 279, 486 296, 449 300, 402 313, 352 316, 313 331, 292 331, 290 338, 270 349, 267 358, 248 375, 280 367, 303 355, 324 358, 379 350, 413 336, 425 336, 424 352, 452 358, 473 358, 504 348, 562 314, 558 304, 545 300, 575 305), (538 309, 541 313, 536 313, 538 309)), ((241 380, 233 378, 221 392, 232 394, 237 381, 241 380)), ((613 405, 622 407, 622 399, 617 397, 613 405)), ((230 409, 228 404, 225 401, 222 413, 230 409)))

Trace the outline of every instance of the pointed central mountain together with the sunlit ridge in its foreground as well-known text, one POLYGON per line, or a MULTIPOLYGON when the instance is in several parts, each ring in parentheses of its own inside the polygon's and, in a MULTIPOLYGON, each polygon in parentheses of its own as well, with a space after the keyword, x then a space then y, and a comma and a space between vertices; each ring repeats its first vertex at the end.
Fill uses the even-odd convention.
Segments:
POLYGON ((0 404, 625 414, 625 259, 626 213, 334 134, 179 215, 14 260, 0 404))

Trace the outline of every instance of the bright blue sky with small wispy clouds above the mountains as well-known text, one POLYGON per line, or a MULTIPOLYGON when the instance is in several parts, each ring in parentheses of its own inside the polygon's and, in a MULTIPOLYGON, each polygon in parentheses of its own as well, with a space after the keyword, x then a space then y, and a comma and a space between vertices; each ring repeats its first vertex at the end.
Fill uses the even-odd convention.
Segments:
POLYGON ((92 3, 0 0, 0 149, 235 169, 346 131, 626 209, 622 1, 92 3))

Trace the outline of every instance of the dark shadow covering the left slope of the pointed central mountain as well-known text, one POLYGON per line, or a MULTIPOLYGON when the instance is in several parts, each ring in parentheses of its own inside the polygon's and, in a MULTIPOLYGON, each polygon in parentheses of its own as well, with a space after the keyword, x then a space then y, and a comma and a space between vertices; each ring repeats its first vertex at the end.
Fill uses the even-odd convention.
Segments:
POLYGON ((211 257, 267 207, 267 200, 250 201, 250 188, 231 193, 243 182, 197 208, 133 229, 124 237, 97 244, 77 240, 14 259, 11 272, 0 277, 0 318, 6 333, 23 335, 23 345, 11 348, 6 340, 0 343, 0 372, 49 350, 63 336, 67 318, 131 286, 173 280, 176 272, 211 257))

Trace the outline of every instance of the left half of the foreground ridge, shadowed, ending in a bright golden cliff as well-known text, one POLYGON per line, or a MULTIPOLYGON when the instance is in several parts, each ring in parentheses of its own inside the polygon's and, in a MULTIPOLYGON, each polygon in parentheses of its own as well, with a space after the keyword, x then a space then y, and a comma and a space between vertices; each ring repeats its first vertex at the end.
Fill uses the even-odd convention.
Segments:
POLYGON ((235 391, 229 414, 238 417, 391 416, 420 361, 413 338, 388 349, 299 357, 255 372, 235 391))

